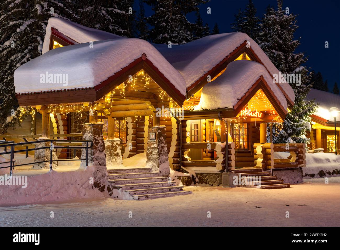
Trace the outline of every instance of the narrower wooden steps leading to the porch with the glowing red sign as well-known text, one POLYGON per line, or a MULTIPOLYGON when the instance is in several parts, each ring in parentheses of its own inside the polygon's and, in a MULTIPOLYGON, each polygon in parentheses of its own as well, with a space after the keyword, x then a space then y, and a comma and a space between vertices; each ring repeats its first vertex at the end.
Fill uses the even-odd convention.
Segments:
POLYGON ((257 184, 251 185, 237 185, 239 187, 257 187, 260 185, 262 189, 278 189, 278 188, 288 188, 289 183, 284 183, 283 180, 278 180, 276 176, 272 176, 271 172, 262 172, 261 169, 235 169, 235 173, 239 176, 245 176, 247 178, 247 183, 252 180, 252 176, 261 176, 261 181, 257 184))

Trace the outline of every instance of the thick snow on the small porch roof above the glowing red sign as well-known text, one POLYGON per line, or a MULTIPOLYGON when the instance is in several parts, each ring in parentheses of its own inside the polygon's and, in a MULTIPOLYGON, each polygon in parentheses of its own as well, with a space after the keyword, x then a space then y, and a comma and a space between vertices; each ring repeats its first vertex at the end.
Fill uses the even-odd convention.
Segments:
POLYGON ((285 96, 273 83, 266 68, 254 61, 238 60, 229 63, 221 76, 203 87, 200 103, 195 110, 233 108, 260 76, 263 76, 277 100, 287 109, 285 96))

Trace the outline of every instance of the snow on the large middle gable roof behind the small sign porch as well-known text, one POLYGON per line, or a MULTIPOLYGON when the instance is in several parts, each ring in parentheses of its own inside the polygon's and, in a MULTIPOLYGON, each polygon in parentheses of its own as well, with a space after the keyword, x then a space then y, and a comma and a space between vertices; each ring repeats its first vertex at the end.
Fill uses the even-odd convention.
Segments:
MULTIPOLYGON (((205 36, 183 45, 172 45, 171 48, 164 44, 153 46, 182 74, 186 86, 189 87, 244 41, 249 41, 250 47, 272 75, 278 74, 278 69, 265 52, 253 39, 241 32, 205 36)), ((280 86, 294 101, 295 95, 291 86, 288 83, 280 83, 280 86)))

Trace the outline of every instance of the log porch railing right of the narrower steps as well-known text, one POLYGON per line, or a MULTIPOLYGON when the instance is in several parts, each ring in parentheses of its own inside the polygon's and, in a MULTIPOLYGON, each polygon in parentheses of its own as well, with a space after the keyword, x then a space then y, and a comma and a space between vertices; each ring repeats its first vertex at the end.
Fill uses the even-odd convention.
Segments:
POLYGON ((255 168, 297 168, 306 167, 305 143, 255 143, 254 144, 255 168), (274 152, 289 152, 287 159, 275 159, 274 152))

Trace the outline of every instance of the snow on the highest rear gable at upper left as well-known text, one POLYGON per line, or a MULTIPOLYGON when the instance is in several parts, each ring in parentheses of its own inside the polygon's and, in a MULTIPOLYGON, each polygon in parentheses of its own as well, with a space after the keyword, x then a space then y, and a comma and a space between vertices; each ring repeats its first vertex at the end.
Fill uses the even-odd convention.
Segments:
POLYGON ((122 36, 118 36, 106 31, 88 28, 86 26, 71 22, 63 18, 51 17, 48 19, 48 24, 46 27, 46 35, 43 44, 43 54, 49 51, 52 27, 80 44, 88 43, 90 41, 124 38, 122 36))

